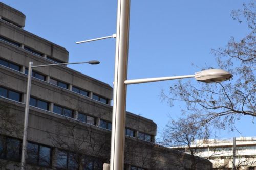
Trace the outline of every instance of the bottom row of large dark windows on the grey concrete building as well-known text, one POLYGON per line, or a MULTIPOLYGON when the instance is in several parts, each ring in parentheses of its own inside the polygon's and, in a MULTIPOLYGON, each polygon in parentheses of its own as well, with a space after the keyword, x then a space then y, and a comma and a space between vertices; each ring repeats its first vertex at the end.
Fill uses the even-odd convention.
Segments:
MULTIPOLYGON (((52 148, 46 145, 28 142, 26 162, 31 165, 51 167, 52 159, 55 160, 55 166, 58 169, 78 169, 82 165, 85 170, 101 170, 103 161, 84 155, 77 155, 64 150, 56 150, 53 157, 52 148)), ((20 161, 22 152, 22 140, 0 136, 0 159, 11 161, 20 161)), ((144 168, 131 166, 131 170, 145 170, 144 168)))

